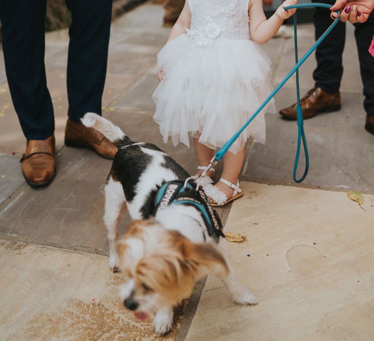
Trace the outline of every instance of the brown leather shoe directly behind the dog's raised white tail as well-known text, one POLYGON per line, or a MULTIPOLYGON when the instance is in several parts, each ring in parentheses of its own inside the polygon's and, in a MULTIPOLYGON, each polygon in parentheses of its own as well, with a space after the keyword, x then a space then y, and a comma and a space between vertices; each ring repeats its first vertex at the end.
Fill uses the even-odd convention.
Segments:
POLYGON ((92 149, 97 155, 109 160, 112 160, 118 151, 102 133, 76 123, 70 118, 65 128, 65 146, 92 149))

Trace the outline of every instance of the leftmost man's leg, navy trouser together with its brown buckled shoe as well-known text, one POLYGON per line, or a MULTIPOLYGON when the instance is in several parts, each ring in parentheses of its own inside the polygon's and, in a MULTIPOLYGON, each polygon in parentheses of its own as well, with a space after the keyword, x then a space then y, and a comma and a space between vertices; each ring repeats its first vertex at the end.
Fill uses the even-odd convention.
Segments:
POLYGON ((22 173, 31 186, 48 185, 56 172, 55 120, 44 67, 47 0, 2 0, 5 70, 14 108, 27 139, 22 173))

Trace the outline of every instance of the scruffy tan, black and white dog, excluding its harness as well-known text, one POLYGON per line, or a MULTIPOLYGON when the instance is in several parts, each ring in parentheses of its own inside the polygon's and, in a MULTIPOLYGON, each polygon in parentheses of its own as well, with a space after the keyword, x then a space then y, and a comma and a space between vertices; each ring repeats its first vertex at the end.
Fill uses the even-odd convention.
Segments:
POLYGON ((126 279, 120 289, 125 306, 141 320, 155 314, 155 332, 166 334, 172 329, 173 306, 189 297, 196 281, 207 274, 219 276, 235 302, 257 303, 236 281, 222 250, 224 238, 215 243, 198 209, 171 204, 154 212, 157 190, 169 181, 185 180, 188 173, 155 145, 132 142, 97 114, 86 114, 82 123, 118 147, 105 186, 104 222, 110 267, 119 268, 126 279), (117 241, 126 207, 134 221, 117 241))

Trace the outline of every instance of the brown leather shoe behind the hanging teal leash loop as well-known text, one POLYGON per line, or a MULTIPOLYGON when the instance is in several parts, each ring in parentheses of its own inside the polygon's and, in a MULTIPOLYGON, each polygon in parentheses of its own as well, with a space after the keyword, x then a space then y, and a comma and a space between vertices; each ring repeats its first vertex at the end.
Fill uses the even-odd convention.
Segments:
MULTIPOLYGON (((311 118, 318 113, 330 113, 340 110, 340 93, 328 93, 321 88, 313 88, 301 99, 302 117, 311 118)), ((296 104, 279 112, 287 119, 297 119, 296 104)))

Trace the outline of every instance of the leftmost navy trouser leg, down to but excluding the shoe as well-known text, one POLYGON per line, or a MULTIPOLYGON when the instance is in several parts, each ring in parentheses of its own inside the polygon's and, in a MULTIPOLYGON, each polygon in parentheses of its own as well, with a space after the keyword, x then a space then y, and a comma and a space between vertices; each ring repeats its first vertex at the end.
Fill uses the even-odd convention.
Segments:
POLYGON ((44 140, 55 130, 44 68, 46 5, 47 0, 0 1, 6 76, 28 140, 44 140))

